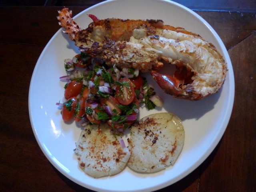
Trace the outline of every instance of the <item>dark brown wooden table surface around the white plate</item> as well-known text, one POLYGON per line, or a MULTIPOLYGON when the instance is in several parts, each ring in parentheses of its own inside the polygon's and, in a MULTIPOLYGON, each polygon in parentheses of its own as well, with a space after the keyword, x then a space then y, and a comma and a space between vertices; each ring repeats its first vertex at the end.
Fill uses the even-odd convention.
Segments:
MULTIPOLYGON (((38 146, 28 114, 35 64, 60 28, 54 6, 0 7, 0 191, 91 191, 63 176, 38 146)), ((71 7, 73 15, 83 7, 71 7)), ((256 12, 196 11, 222 38, 235 77, 224 136, 192 173, 159 192, 256 191, 256 12)))

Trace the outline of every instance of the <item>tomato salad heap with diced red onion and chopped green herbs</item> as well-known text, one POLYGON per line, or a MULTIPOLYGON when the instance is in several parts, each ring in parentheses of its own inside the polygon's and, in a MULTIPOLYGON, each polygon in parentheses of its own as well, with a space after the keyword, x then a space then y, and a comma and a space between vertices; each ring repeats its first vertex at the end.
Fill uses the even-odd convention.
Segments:
POLYGON ((119 70, 83 52, 64 60, 66 81, 62 107, 65 122, 81 125, 108 123, 115 134, 123 132, 137 119, 140 106, 148 110, 162 106, 154 88, 134 68, 119 70))

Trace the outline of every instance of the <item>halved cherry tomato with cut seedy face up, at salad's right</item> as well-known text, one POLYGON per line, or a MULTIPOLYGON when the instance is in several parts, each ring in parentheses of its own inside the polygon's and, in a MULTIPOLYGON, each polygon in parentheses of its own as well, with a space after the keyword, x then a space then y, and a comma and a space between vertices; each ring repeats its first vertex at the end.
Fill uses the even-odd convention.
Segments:
POLYGON ((116 86, 116 99, 121 104, 128 105, 134 100, 134 87, 128 78, 120 79, 120 83, 122 83, 122 85, 116 86))

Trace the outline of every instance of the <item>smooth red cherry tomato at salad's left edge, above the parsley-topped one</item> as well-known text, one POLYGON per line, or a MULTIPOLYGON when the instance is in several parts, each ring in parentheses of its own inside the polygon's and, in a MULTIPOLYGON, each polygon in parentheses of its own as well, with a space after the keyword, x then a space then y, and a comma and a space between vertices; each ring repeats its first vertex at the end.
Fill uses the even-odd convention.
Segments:
POLYGON ((81 90, 83 88, 83 82, 76 80, 73 80, 68 84, 68 86, 65 89, 64 96, 66 99, 69 99, 71 97, 76 97, 78 94, 80 94, 81 90))

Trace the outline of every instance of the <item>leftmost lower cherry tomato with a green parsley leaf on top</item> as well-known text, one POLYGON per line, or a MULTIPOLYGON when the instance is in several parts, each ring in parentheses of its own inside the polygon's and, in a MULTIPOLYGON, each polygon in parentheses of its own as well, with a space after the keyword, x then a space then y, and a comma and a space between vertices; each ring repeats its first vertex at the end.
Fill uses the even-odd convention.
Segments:
POLYGON ((69 122, 74 117, 76 105, 77 105, 76 97, 72 97, 64 103, 61 114, 62 114, 62 119, 65 122, 69 122))

